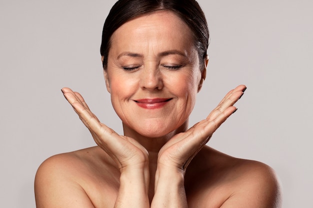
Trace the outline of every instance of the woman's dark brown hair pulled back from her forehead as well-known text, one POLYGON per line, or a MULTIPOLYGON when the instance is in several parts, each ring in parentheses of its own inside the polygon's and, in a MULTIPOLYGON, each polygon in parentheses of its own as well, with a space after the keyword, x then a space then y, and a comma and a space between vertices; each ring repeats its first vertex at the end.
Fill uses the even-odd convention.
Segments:
POLYGON ((118 0, 107 15, 100 47, 103 69, 107 68, 110 38, 113 32, 130 19, 153 11, 169 10, 179 16, 191 29, 200 63, 206 58, 209 32, 202 9, 195 0, 118 0))

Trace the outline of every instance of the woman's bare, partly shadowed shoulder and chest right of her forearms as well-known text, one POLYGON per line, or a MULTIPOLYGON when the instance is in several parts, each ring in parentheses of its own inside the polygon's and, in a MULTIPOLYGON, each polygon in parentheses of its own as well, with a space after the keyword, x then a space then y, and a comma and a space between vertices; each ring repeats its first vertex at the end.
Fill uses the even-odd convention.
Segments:
POLYGON ((196 157, 197 167, 202 167, 197 174, 202 185, 192 189, 202 188, 205 197, 202 195, 200 201, 209 208, 280 208, 279 182, 268 165, 234 158, 208 147, 196 157))

